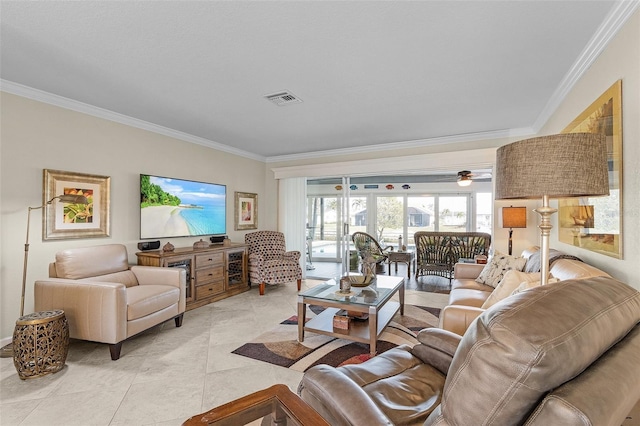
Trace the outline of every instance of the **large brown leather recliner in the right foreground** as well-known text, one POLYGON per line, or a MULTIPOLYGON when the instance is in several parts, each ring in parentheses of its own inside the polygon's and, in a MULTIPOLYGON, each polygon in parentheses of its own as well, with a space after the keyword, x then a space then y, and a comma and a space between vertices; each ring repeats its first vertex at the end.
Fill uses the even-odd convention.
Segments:
POLYGON ((482 313, 464 336, 338 368, 298 393, 331 425, 620 425, 640 399, 640 293, 609 277, 536 287, 482 313))

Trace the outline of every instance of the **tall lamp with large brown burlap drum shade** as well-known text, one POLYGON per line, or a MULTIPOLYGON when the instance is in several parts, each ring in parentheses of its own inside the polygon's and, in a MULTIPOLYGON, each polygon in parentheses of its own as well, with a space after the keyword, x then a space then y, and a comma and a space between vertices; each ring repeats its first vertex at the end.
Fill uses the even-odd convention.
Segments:
POLYGON ((549 280, 551 198, 609 195, 604 135, 564 133, 525 139, 498 148, 496 199, 540 199, 540 283, 549 280))

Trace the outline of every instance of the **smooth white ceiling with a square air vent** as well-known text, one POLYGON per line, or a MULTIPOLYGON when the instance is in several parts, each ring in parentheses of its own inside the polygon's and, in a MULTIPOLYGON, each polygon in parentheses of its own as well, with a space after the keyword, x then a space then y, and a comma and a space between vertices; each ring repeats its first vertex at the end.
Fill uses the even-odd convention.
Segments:
POLYGON ((528 135, 629 3, 2 1, 0 77, 266 161, 528 135))

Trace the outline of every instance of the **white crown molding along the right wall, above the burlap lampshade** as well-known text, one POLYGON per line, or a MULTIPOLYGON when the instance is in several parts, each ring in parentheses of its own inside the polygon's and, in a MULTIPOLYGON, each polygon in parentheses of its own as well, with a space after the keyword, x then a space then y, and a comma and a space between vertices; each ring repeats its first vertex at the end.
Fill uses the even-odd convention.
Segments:
POLYGON ((607 48, 611 39, 626 24, 627 20, 640 6, 640 0, 621 0, 616 2, 609 15, 600 25, 596 33, 591 37, 571 69, 564 76, 560 85, 555 90, 544 109, 533 124, 534 133, 538 133, 545 123, 558 109, 562 101, 567 97, 573 86, 582 78, 584 73, 596 61, 598 56, 607 48))

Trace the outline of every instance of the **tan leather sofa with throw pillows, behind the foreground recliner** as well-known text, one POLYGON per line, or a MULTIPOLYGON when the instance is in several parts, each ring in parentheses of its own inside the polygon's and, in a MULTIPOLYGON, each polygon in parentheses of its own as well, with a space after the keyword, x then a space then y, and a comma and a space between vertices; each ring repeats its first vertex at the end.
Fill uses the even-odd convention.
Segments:
MULTIPOLYGON (((522 252, 522 256, 528 259, 538 250, 537 246, 530 247, 522 252)), ((481 306, 494 291, 493 287, 476 281, 484 266, 474 263, 455 265, 449 305, 440 313, 440 328, 463 335, 469 324, 484 312, 481 306)), ((558 259, 552 262, 549 272, 561 281, 609 276, 594 266, 574 259, 558 259)))

